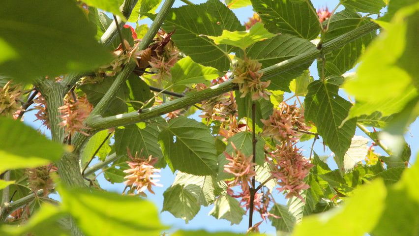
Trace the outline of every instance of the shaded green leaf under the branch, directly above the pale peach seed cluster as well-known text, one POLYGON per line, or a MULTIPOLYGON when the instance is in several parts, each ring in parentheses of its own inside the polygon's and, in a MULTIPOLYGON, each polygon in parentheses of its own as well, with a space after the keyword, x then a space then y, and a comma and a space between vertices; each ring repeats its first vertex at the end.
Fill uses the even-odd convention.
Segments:
MULTIPOLYGON (((163 118, 158 118, 157 122, 164 124, 166 122, 163 118)), ((141 153, 144 157, 158 158, 159 162, 155 167, 164 168, 163 153, 158 144, 158 135, 162 128, 159 125, 147 124, 145 128, 141 129, 137 125, 127 125, 123 129, 115 129, 115 151, 117 155, 127 154, 127 147, 131 151, 131 155, 141 153)))

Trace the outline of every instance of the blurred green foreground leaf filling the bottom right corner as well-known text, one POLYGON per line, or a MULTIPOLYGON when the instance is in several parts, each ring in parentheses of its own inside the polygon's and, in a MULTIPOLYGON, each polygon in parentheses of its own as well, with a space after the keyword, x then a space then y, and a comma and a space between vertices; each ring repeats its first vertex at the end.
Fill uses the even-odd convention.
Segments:
POLYGON ((389 188, 385 210, 371 235, 418 235, 419 169, 415 164, 404 171, 399 182, 389 188), (410 222, 406 224, 406 221, 410 222))

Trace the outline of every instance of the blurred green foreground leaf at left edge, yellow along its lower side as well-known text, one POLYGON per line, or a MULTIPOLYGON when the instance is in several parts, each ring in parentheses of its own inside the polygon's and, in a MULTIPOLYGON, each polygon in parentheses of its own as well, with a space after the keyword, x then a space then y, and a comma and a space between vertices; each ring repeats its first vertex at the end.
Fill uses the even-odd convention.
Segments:
POLYGON ((11 118, 0 117, 0 173, 33 168, 58 161, 63 148, 32 127, 11 118))

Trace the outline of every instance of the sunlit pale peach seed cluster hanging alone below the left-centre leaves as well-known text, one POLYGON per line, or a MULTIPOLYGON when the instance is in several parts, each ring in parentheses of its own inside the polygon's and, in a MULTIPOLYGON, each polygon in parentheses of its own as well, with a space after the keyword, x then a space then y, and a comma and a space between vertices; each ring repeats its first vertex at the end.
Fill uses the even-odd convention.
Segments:
POLYGON ((163 187, 162 184, 157 183, 159 179, 153 179, 155 177, 160 177, 159 175, 155 175, 155 172, 160 172, 160 169, 155 169, 153 165, 157 162, 157 158, 140 158, 137 157, 138 152, 135 153, 135 156, 132 157, 131 152, 128 149, 128 156, 131 161, 127 161, 129 167, 131 169, 124 170, 124 173, 127 173, 126 178, 127 180, 123 182, 125 185, 128 185, 132 189, 132 195, 135 193, 136 190, 137 194, 147 197, 144 193, 146 189, 149 190, 150 193, 154 194, 151 186, 159 186, 163 187))

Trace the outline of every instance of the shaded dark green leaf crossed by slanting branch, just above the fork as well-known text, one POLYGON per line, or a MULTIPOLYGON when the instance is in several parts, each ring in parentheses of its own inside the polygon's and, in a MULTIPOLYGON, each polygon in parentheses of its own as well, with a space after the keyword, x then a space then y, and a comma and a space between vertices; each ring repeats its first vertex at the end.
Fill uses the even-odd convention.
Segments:
MULTIPOLYGON (((96 106, 99 101, 103 98, 105 93, 114 83, 115 78, 107 77, 103 79, 102 82, 97 82, 94 84, 85 84, 79 88, 86 93, 89 102, 96 106)), ((112 101, 109 102, 106 112, 103 114, 104 117, 114 116, 122 114, 128 111, 128 106, 125 104, 126 98, 128 97, 129 89, 126 84, 122 84, 121 88, 118 90, 116 96, 112 101)))

